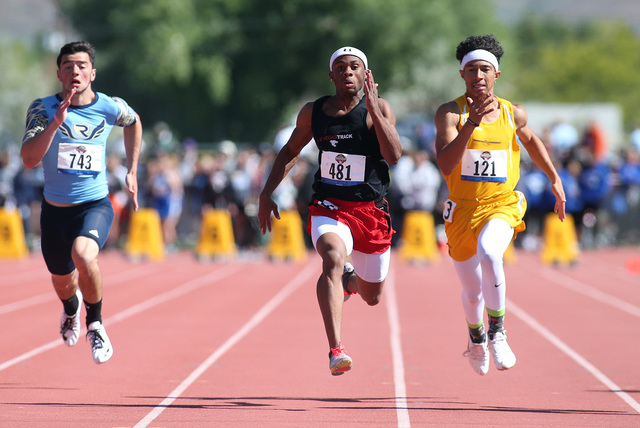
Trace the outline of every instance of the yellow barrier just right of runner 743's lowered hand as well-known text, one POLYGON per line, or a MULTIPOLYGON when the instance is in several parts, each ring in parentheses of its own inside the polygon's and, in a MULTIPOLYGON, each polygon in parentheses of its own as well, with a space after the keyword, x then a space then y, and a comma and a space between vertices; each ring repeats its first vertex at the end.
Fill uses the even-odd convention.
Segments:
POLYGON ((131 213, 125 251, 133 258, 147 256, 150 260, 161 260, 164 257, 160 216, 154 209, 143 208, 131 213))

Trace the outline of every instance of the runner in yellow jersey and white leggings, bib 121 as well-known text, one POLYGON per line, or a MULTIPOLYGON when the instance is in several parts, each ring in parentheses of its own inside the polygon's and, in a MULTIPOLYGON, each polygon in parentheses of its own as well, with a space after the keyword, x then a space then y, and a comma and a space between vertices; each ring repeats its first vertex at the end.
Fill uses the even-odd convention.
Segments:
POLYGON ((503 53, 492 35, 462 41, 456 58, 466 92, 440 106, 435 118, 437 162, 449 188, 443 212, 449 254, 462 283, 469 326, 464 355, 481 375, 489 370, 489 354, 498 370, 516 363, 503 324, 502 258, 517 232, 525 228, 526 200, 514 190, 520 178, 519 143, 551 181, 555 212, 560 220, 565 218, 562 182, 542 141, 528 127, 527 112, 493 94, 503 53))

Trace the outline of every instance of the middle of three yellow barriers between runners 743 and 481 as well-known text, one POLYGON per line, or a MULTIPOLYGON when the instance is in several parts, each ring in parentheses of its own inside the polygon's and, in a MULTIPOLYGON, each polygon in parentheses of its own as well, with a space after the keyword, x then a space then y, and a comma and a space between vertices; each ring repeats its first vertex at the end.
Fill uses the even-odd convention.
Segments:
POLYGON ((207 212, 202 218, 196 255, 199 258, 234 256, 236 251, 229 211, 211 210, 207 212))

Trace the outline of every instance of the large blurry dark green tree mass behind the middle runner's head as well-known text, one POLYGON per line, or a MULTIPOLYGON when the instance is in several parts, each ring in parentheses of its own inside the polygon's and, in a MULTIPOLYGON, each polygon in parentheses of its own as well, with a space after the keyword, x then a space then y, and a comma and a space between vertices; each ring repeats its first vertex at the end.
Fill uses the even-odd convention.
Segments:
POLYGON ((393 88, 398 99, 411 94, 412 105, 431 107, 450 90, 443 76, 451 75, 455 44, 495 23, 489 8, 472 0, 61 6, 98 50, 96 89, 123 96, 143 123, 165 121, 182 138, 201 141, 270 138, 303 101, 331 91, 328 58, 343 45, 367 52, 383 94, 393 88))

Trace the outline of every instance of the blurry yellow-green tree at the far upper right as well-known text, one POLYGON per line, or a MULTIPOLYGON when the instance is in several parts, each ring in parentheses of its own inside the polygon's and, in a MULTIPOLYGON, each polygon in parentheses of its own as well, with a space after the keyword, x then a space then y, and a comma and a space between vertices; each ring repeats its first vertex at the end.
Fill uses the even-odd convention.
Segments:
POLYGON ((635 70, 640 38, 624 23, 568 27, 528 19, 517 27, 518 99, 542 102, 614 102, 630 126, 640 104, 635 70))

